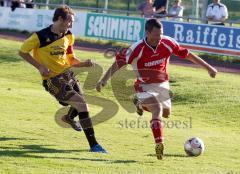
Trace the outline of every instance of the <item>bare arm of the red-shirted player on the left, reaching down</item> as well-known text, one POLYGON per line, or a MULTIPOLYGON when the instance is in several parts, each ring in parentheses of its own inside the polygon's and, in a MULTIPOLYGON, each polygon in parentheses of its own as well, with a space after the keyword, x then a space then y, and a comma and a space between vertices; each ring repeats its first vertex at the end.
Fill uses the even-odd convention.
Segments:
POLYGON ((107 84, 107 81, 113 76, 113 74, 119 70, 120 68, 117 65, 117 62, 115 61, 112 66, 109 67, 107 72, 104 74, 103 78, 97 83, 96 90, 98 92, 101 92, 102 87, 104 87, 107 84))

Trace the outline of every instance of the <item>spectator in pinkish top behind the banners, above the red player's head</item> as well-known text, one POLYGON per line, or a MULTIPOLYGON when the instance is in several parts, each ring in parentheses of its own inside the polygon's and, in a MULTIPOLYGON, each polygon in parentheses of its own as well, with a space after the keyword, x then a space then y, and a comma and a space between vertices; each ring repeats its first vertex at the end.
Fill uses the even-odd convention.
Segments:
POLYGON ((146 0, 146 2, 138 5, 137 9, 141 12, 141 16, 144 18, 152 18, 155 13, 155 8, 153 7, 152 0, 146 0))

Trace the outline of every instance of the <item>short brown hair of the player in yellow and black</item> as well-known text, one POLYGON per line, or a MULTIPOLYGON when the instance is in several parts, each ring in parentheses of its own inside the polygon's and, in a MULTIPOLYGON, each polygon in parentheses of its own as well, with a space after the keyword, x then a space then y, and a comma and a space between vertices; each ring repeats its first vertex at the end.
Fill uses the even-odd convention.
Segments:
POLYGON ((68 15, 75 15, 75 13, 67 5, 60 6, 54 12, 53 22, 56 22, 58 20, 59 16, 61 16, 63 18, 63 20, 66 20, 68 15))

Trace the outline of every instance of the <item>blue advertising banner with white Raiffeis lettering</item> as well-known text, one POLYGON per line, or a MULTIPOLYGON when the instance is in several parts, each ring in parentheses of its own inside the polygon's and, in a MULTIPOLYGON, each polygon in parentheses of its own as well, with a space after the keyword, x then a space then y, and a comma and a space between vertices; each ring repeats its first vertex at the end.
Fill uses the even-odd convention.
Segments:
POLYGON ((240 57, 240 28, 162 21, 164 35, 196 51, 240 57))

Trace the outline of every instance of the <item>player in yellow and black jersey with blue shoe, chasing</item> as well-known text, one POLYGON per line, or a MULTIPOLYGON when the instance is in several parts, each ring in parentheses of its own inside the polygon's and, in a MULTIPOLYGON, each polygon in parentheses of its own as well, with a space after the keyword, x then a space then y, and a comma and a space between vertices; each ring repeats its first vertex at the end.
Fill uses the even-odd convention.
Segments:
POLYGON ((83 129, 91 152, 106 153, 96 141, 80 85, 69 69, 94 65, 91 60, 80 61, 74 55, 74 36, 69 30, 72 28, 74 15, 68 6, 57 8, 53 24, 33 33, 21 46, 19 55, 38 69, 43 78, 43 86, 60 104, 71 106, 62 120, 77 131, 83 129), (77 115, 81 125, 74 121, 77 115))

